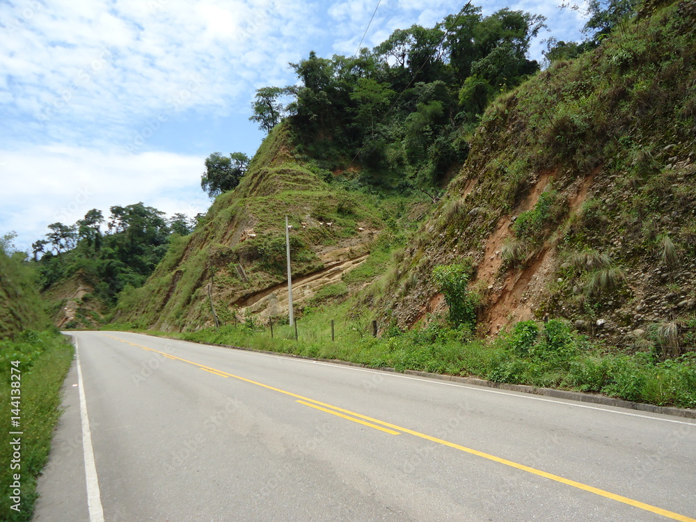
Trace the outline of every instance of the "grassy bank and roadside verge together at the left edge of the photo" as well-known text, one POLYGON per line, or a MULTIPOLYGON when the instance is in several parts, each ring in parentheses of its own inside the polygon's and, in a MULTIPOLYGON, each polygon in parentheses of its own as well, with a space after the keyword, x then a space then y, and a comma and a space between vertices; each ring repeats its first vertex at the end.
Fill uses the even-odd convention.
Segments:
POLYGON ((10 233, 0 239, 0 519, 10 522, 31 520, 36 479, 48 458, 60 414, 60 389, 73 354, 72 345, 55 329, 38 332, 49 327, 49 319, 42 309, 36 274, 26 253, 14 252, 13 237, 10 233), (16 390, 19 404, 12 402, 16 390), (13 416, 19 417, 19 428, 10 427, 13 416), (10 466, 10 431, 24 432, 19 469, 10 466), (20 512, 10 509, 15 473, 21 475, 20 512))

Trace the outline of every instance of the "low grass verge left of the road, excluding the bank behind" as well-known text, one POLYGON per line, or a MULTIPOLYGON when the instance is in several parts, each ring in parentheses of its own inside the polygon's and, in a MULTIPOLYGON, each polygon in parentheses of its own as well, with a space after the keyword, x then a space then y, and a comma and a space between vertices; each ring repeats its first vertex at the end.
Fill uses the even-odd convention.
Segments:
MULTIPOLYGON (((19 522, 29 521, 33 514, 37 498, 36 480, 48 459, 51 447, 53 429, 61 414, 60 390, 68 373, 74 349, 62 335, 57 332, 25 331, 14 341, 0 341, 0 416, 2 431, 0 432, 0 484, 2 497, 0 499, 0 521, 19 522), (19 361, 13 365, 12 361, 19 361), (10 404, 10 390, 13 389, 12 368, 19 370, 20 405, 19 427, 10 423, 15 416, 12 412, 15 406, 10 404), (13 457, 11 441, 15 435, 10 432, 20 431, 21 457, 13 457), (18 460, 13 464, 13 460, 18 460), (13 469, 17 466, 19 469, 13 469), (19 511, 12 509, 16 505, 10 500, 13 496, 13 475, 21 475, 21 503, 19 511)), ((17 388, 14 388, 17 389, 17 388)))

